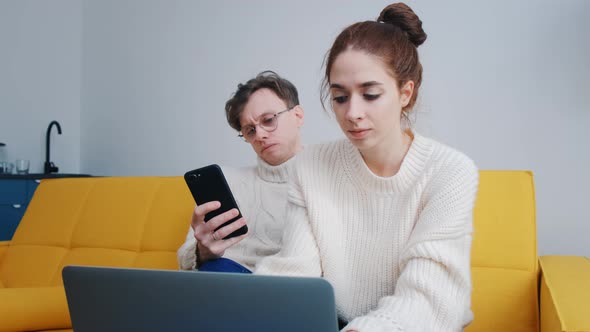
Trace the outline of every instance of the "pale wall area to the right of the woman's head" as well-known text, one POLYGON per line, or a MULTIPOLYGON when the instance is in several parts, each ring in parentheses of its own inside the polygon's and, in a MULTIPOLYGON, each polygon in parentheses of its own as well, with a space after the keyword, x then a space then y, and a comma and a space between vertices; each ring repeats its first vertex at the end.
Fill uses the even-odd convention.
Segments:
POLYGON ((590 256, 590 1, 444 4, 420 10, 432 136, 532 170, 539 252, 590 256))

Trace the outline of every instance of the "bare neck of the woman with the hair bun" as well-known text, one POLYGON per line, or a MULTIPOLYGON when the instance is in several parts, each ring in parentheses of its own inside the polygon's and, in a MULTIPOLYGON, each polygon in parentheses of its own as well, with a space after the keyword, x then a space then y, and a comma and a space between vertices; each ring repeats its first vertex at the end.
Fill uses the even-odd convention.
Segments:
POLYGON ((361 151, 367 167, 377 176, 391 177, 397 174, 412 145, 414 135, 409 129, 396 132, 389 140, 370 150, 361 151))

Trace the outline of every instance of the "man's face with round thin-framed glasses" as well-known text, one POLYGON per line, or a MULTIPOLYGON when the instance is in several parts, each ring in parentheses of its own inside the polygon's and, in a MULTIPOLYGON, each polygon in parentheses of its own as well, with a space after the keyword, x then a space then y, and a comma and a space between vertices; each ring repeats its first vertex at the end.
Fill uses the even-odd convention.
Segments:
POLYGON ((242 134, 246 134, 247 128, 254 128, 255 134, 247 141, 262 160, 273 166, 291 159, 301 149, 303 109, 299 105, 276 116, 276 129, 264 128, 275 114, 287 108, 272 90, 260 89, 250 96, 240 114, 242 134))

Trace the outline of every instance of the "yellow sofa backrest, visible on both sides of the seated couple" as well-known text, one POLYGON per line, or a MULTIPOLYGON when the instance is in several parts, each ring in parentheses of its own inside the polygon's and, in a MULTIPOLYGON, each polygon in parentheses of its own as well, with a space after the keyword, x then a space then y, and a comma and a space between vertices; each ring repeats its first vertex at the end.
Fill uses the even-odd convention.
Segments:
MULTIPOLYGON (((194 201, 182 177, 41 182, 0 263, 3 287, 61 284, 65 265, 176 269, 194 201)), ((481 171, 467 331, 538 331, 533 176, 481 171)))

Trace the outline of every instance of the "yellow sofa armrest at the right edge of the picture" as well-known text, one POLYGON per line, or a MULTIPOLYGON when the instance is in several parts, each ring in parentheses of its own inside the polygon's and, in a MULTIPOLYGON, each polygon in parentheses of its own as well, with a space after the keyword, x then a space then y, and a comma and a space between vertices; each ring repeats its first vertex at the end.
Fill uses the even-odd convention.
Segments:
POLYGON ((590 331, 590 260, 542 256, 541 331, 590 331))

